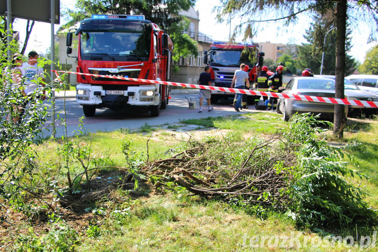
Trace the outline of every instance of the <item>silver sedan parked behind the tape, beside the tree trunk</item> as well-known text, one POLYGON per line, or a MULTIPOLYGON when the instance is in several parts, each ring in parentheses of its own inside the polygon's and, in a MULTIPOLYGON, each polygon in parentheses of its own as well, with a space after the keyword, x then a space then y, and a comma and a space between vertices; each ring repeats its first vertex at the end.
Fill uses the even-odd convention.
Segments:
MULTIPOLYGON (((320 97, 335 97, 335 81, 316 77, 295 77, 289 81, 282 93, 289 95, 310 95, 320 97)), ((277 103, 277 113, 283 113, 283 119, 298 113, 320 114, 323 119, 333 120, 335 105, 314 101, 301 101, 280 98, 277 103)), ((348 106, 345 106, 348 112, 348 106)))

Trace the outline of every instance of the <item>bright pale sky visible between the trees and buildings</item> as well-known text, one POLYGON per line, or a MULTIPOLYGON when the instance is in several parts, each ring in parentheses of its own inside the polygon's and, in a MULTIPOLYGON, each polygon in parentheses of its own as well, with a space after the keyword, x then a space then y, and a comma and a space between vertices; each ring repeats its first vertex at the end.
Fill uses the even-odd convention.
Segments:
MULTIPOLYGON (((214 5, 217 5, 218 0, 197 0, 195 9, 200 13, 200 32, 211 36, 215 40, 227 40, 229 36, 230 26, 228 23, 219 24, 216 22, 215 14, 212 13, 214 5)), ((63 8, 75 6, 75 0, 60 0, 60 4, 63 8)), ((61 10, 62 11, 62 10, 61 10)), ((60 20, 61 24, 64 24, 64 20, 60 20)), ((240 19, 233 19, 231 21, 231 29, 234 25, 240 23, 240 19)), ((299 17, 298 22, 295 25, 289 27, 282 27, 281 23, 269 23, 264 24, 254 42, 267 42, 272 43, 305 43, 303 38, 305 30, 308 29, 308 18, 304 15, 299 17)), ((14 23, 15 30, 20 31, 20 40, 25 38, 25 25, 26 20, 17 19, 14 23)), ((59 28, 59 25, 55 25, 55 32, 59 28)), ((329 35, 328 35, 329 36, 329 35)), ((368 31, 366 29, 354 29, 352 34, 352 50, 348 53, 355 59, 363 62, 366 51, 377 42, 367 44, 368 31)), ((241 37, 238 38, 241 41, 241 37)), ((46 48, 50 46, 50 24, 44 22, 36 22, 33 27, 33 31, 29 38, 28 47, 26 52, 30 50, 36 50, 39 53, 45 53, 46 48)))

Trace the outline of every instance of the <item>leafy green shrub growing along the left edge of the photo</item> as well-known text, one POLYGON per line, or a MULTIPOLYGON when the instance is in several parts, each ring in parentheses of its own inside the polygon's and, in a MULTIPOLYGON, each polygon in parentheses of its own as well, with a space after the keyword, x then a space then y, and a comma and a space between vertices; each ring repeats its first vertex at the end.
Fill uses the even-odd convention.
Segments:
MULTIPOLYGON (((4 32, 4 31, 1 31, 4 32)), ((47 107, 38 98, 45 88, 37 88, 27 97, 23 95, 23 80, 20 85, 12 81, 12 62, 7 59, 7 50, 16 48, 13 44, 2 44, 0 62, 0 211, 2 213, 13 203, 20 209, 34 209, 34 206, 23 206, 25 199, 33 197, 41 200, 40 185, 44 179, 40 176, 40 167, 36 161, 38 154, 30 146, 41 141, 40 133, 47 117, 47 107), (12 118, 18 117, 16 109, 20 104, 29 101, 24 115, 19 122, 12 118), (9 118, 7 118, 9 117, 9 118)), ((38 66, 48 61, 38 59, 38 66)), ((42 82, 42 79, 39 81, 42 82)), ((42 82, 43 83, 43 82, 42 82)), ((44 201, 39 202, 46 206, 44 201)), ((1 220, 6 216, 1 215, 1 220)))

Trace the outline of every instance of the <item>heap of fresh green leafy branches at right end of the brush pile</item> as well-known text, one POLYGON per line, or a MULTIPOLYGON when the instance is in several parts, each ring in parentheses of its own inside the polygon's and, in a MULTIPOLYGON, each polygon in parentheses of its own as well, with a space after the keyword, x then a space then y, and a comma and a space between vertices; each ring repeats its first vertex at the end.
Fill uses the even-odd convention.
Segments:
MULTIPOLYGON (((345 176, 364 176, 340 161, 344 153, 328 145, 317 134, 316 116, 295 115, 286 134, 299 165, 291 181, 292 203, 288 215, 300 225, 310 227, 344 226, 369 223, 376 214, 364 202, 365 194, 345 176)), ((324 122, 323 122, 324 123, 324 122)))

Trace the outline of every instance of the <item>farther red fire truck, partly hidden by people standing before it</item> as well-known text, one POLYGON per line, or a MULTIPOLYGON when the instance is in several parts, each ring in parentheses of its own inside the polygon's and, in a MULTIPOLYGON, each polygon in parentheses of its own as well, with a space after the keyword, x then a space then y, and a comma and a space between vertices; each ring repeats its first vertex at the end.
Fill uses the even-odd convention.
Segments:
MULTIPOLYGON (((204 64, 211 67, 210 75, 213 85, 216 87, 231 86, 235 70, 240 69, 240 64, 248 66, 249 82, 253 84, 258 74, 258 67, 263 65, 265 55, 259 52, 256 44, 225 44, 214 43, 210 46, 209 51, 204 52, 204 64), (250 55, 254 55, 256 62, 251 62, 250 55)), ((251 85, 252 87, 253 85, 251 85)), ((234 93, 212 91, 211 102, 216 103, 219 99, 228 99, 234 97, 234 93)), ((253 104, 253 96, 248 96, 248 103, 253 104)))

